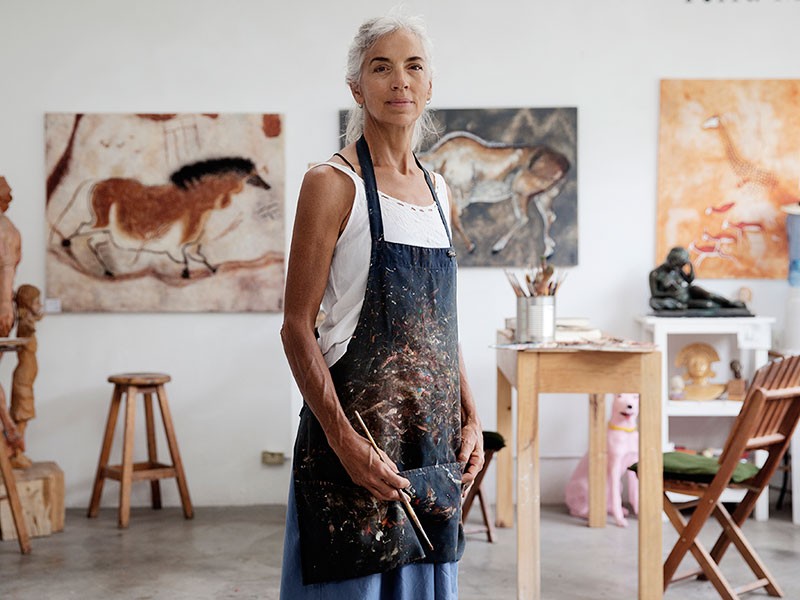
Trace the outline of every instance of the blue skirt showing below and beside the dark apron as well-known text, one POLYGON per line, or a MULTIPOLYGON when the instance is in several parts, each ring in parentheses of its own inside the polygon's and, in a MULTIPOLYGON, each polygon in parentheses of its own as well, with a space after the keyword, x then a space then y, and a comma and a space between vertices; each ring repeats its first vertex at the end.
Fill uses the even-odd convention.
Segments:
POLYGON ((289 507, 283 542, 281 600, 457 600, 458 563, 413 563, 388 573, 303 585, 300 530, 289 484, 289 507))

